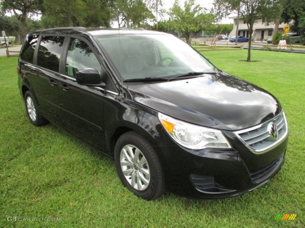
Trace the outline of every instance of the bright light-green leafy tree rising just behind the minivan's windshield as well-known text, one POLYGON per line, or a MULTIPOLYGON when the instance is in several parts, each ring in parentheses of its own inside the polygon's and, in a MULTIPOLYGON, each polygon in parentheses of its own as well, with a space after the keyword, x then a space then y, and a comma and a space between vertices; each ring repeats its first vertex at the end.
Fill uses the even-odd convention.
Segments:
POLYGON ((175 0, 169 15, 173 18, 174 27, 183 34, 187 43, 191 41, 191 33, 196 34, 213 22, 213 16, 203 13, 203 8, 196 4, 196 0, 185 1, 183 8, 175 0))

